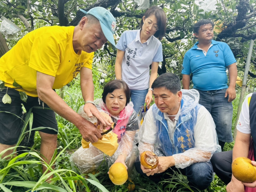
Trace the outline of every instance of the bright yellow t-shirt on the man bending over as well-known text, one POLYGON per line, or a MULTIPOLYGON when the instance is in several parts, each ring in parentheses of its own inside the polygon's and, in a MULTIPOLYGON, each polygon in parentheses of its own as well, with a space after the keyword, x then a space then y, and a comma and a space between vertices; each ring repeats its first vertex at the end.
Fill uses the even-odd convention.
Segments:
POLYGON ((0 58, 0 80, 15 88, 14 80, 22 87, 16 89, 37 97, 36 71, 55 77, 53 89, 72 81, 82 67, 91 69, 94 52, 75 53, 71 27, 41 27, 22 39, 0 58))

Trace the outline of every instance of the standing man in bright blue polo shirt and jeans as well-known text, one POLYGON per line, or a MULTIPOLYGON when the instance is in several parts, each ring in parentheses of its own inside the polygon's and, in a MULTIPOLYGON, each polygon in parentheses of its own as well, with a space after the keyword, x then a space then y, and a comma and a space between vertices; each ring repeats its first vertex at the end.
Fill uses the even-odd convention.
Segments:
POLYGON ((229 46, 224 42, 212 40, 213 26, 210 20, 201 20, 195 24, 194 33, 198 42, 185 53, 181 73, 184 89, 189 89, 190 74, 193 74, 193 88, 200 94, 199 104, 211 113, 219 144, 223 149, 225 142, 233 141, 232 101, 236 96, 237 68, 229 46))

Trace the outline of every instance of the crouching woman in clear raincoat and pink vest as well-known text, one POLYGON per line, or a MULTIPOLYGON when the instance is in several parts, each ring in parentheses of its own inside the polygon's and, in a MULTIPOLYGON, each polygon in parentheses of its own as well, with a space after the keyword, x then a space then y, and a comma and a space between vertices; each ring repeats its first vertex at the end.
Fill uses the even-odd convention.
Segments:
MULTIPOLYGON (((127 84, 121 80, 109 81, 104 87, 102 99, 95 100, 96 106, 103 115, 108 114, 114 122, 112 130, 118 139, 118 147, 112 156, 104 154, 94 147, 91 143, 89 148, 82 146, 75 151, 70 162, 78 167, 81 173, 88 174, 97 170, 101 162, 106 159, 109 167, 113 163, 120 162, 126 168, 134 164, 132 153, 136 147, 135 133, 139 129, 139 121, 133 104, 130 102, 130 90, 127 84)), ((84 113, 83 106, 79 109, 78 114, 92 123, 96 123, 96 118, 89 118, 84 113)), ((128 170, 129 171, 129 170, 128 170)))

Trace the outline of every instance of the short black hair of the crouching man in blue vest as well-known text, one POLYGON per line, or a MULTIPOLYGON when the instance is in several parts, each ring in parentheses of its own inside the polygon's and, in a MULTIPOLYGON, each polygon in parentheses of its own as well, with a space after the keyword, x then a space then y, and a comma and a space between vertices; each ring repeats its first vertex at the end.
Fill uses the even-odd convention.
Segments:
POLYGON ((164 73, 156 78, 151 87, 152 89, 164 87, 173 94, 176 94, 181 89, 180 79, 178 75, 173 73, 164 73))

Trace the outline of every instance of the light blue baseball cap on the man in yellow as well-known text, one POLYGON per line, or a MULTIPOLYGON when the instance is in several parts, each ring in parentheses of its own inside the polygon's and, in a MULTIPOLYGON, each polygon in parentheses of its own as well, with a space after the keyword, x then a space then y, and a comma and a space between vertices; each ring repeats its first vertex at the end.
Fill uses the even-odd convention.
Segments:
POLYGON ((80 9, 80 11, 85 14, 93 15, 100 21, 100 26, 106 39, 108 39, 108 41, 112 44, 113 49, 116 49, 116 44, 113 36, 116 30, 116 19, 109 12, 109 10, 103 7, 94 7, 88 12, 83 9, 80 9))

